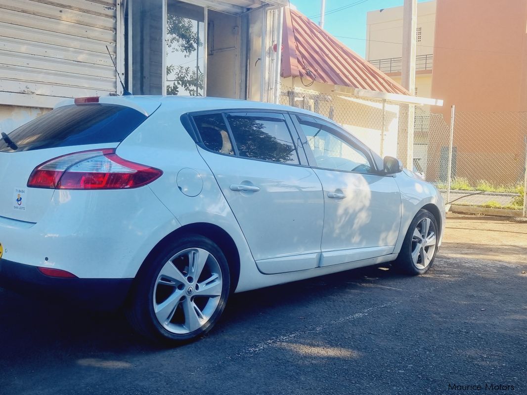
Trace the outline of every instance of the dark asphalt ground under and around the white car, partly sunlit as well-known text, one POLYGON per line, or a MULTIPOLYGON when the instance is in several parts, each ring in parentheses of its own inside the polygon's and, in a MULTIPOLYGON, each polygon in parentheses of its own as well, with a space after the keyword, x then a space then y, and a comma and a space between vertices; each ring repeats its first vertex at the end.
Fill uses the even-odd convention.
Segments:
POLYGON ((0 394, 527 393, 526 260, 527 224, 454 218, 424 276, 354 270, 238 294, 175 349, 121 314, 0 289, 0 394))

